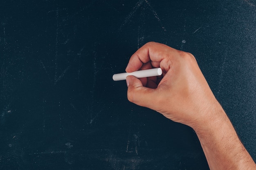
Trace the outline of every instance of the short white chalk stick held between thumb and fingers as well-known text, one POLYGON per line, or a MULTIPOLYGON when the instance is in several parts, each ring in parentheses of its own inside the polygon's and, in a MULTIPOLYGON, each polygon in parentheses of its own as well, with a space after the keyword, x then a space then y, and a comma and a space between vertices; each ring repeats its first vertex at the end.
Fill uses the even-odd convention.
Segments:
POLYGON ((148 70, 134 71, 132 73, 119 73, 119 74, 114 74, 112 78, 115 81, 125 80, 128 75, 133 75, 137 78, 158 76, 158 75, 162 75, 162 69, 152 68, 148 70))

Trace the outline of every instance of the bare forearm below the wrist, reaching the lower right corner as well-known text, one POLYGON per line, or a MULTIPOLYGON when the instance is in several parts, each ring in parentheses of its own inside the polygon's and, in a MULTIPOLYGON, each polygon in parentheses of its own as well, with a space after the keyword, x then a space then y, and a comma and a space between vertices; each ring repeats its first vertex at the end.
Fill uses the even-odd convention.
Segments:
POLYGON ((195 130, 210 169, 256 170, 256 164, 238 138, 224 110, 219 106, 216 111, 216 118, 209 118, 202 124, 202 128, 195 130))

